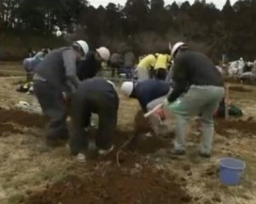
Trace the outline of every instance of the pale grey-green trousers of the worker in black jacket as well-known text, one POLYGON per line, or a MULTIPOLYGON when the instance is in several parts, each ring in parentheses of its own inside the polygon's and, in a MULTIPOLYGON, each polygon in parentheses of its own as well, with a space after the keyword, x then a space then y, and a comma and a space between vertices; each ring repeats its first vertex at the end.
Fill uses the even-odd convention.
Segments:
POLYGON ((186 94, 169 106, 176 116, 175 150, 184 149, 189 117, 201 113, 201 153, 211 153, 214 136, 213 115, 223 97, 222 87, 191 86, 186 94))

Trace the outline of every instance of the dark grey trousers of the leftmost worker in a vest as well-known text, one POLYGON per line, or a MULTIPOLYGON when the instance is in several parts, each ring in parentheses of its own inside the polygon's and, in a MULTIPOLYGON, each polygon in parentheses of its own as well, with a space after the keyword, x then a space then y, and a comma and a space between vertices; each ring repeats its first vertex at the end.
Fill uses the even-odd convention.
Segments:
POLYGON ((44 115, 50 119, 46 139, 67 140, 67 107, 61 91, 50 86, 48 82, 38 80, 33 82, 33 91, 44 115))

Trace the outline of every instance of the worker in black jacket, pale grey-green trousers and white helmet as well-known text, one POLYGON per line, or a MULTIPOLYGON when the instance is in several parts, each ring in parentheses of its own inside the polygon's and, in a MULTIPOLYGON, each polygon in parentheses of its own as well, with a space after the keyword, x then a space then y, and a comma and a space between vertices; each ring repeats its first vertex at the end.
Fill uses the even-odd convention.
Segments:
POLYGON ((190 116, 201 113, 200 156, 210 157, 214 135, 213 115, 224 97, 224 80, 206 55, 193 52, 184 42, 172 47, 174 87, 165 104, 176 115, 173 154, 185 153, 186 130, 190 116))

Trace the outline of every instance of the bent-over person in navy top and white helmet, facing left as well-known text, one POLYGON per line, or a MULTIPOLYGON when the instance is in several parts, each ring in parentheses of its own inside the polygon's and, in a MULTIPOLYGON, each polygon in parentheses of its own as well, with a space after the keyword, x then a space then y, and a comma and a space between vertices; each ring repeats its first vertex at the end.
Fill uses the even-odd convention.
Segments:
POLYGON ((141 82, 123 82, 120 91, 129 98, 137 99, 143 113, 147 113, 161 104, 171 89, 168 82, 147 79, 141 82))

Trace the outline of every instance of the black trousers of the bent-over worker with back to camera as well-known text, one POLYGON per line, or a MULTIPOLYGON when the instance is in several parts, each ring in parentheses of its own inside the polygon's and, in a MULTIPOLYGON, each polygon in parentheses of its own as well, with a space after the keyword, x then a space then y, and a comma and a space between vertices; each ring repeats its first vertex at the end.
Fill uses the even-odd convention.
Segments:
POLYGON ((89 146, 89 133, 85 129, 90 126, 92 111, 99 116, 96 131, 96 146, 108 150, 112 146, 113 133, 117 125, 119 98, 113 95, 90 93, 86 96, 73 94, 71 102, 72 129, 69 139, 71 153, 86 153, 89 146))

